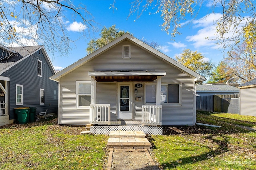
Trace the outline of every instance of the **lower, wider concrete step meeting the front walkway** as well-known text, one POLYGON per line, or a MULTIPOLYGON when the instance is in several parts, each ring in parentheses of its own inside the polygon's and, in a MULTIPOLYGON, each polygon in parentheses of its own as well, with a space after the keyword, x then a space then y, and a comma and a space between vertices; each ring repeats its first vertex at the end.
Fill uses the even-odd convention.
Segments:
POLYGON ((152 145, 145 137, 110 137, 107 147, 114 149, 150 149, 152 145))

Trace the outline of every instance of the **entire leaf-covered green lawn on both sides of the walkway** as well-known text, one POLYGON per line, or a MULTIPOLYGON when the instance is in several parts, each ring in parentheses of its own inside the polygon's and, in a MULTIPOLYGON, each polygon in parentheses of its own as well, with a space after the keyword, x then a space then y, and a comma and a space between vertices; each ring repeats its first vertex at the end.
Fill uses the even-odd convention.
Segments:
MULTIPOLYGON (((151 135, 151 154, 164 170, 256 169, 255 118, 200 112, 198 123, 220 125, 163 127, 151 135), (238 127, 236 125, 240 125, 238 127)), ((56 125, 56 119, 0 127, 1 170, 102 170, 107 135, 80 135, 85 127, 56 125)))

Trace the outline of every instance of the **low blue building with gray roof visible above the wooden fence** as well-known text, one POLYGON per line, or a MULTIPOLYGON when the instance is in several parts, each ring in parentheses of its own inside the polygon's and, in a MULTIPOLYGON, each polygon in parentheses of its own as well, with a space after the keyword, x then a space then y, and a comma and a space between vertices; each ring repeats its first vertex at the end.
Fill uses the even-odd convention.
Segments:
POLYGON ((228 84, 198 84, 197 96, 209 96, 215 94, 239 94, 239 89, 228 84))

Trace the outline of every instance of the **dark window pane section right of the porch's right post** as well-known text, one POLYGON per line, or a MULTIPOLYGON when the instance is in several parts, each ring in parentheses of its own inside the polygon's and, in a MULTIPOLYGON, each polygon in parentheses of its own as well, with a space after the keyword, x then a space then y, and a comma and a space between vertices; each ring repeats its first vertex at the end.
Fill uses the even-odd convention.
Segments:
POLYGON ((161 103, 180 104, 180 84, 161 85, 161 103))

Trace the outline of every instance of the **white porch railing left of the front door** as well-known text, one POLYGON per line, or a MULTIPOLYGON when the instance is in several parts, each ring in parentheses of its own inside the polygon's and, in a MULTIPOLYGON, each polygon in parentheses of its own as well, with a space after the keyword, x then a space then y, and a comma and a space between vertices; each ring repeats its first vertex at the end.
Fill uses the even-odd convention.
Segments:
POLYGON ((90 123, 110 125, 110 104, 90 104, 90 123))

